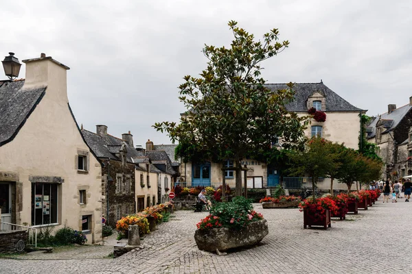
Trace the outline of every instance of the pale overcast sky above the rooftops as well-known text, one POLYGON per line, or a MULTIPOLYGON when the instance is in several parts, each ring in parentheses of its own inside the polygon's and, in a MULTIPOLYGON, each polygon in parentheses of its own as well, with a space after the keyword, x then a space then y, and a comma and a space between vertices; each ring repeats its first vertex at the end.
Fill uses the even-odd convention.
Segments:
POLYGON ((228 21, 289 40, 263 63, 268 83, 323 79, 373 116, 412 96, 411 13, 412 1, 400 0, 1 1, 0 49, 69 66, 69 101, 85 129, 104 124, 114 136, 130 130, 136 145, 168 144, 151 125, 179 120, 177 87, 205 69, 204 44, 230 44, 228 21))

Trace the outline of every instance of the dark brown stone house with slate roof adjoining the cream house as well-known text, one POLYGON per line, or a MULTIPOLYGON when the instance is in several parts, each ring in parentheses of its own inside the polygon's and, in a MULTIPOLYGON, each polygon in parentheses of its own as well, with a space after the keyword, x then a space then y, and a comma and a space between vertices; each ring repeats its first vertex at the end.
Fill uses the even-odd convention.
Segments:
POLYGON ((102 212, 108 225, 115 226, 123 216, 136 212, 135 169, 133 157, 137 151, 130 132, 116 138, 107 133, 106 125, 97 125, 96 133, 82 129, 87 144, 100 161, 102 167, 102 212))

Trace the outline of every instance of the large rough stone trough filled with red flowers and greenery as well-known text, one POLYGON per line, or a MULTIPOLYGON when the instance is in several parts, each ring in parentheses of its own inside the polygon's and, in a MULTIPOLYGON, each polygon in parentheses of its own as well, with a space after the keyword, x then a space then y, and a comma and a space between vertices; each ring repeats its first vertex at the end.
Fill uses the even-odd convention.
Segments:
POLYGON ((268 234, 267 221, 244 197, 214 204, 196 226, 196 245, 209 252, 255 245, 268 234))

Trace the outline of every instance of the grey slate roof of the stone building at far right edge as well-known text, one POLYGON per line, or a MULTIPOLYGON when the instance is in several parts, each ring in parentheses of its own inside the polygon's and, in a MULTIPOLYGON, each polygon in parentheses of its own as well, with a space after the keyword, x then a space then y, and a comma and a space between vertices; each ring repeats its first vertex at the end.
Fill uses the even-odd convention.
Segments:
POLYGON ((384 114, 380 114, 379 117, 374 117, 374 120, 371 121, 368 127, 371 127, 371 132, 368 132, 367 138, 374 138, 376 136, 376 124, 378 121, 383 121, 383 127, 385 131, 382 134, 387 132, 391 132, 395 127, 402 121, 405 115, 411 110, 412 105, 403 105, 400 108, 396 108, 392 110, 391 113, 385 112, 384 114))

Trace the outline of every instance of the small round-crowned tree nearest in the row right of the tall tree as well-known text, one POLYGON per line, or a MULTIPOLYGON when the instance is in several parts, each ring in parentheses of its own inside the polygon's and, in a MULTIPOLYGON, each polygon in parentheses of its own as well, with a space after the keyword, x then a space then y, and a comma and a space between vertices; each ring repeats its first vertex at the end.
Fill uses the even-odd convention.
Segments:
POLYGON ((290 173, 298 176, 308 174, 312 177, 313 201, 316 199, 314 188, 317 179, 325 177, 333 169, 336 169, 336 155, 330 153, 329 143, 319 136, 313 137, 309 140, 304 151, 289 155, 293 163, 289 168, 290 173))

